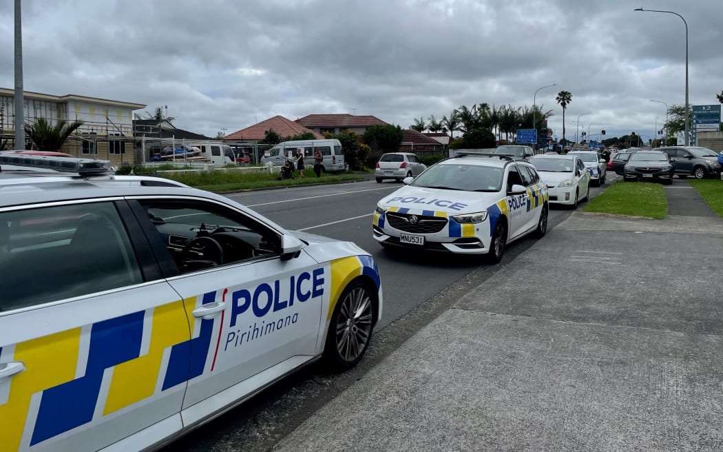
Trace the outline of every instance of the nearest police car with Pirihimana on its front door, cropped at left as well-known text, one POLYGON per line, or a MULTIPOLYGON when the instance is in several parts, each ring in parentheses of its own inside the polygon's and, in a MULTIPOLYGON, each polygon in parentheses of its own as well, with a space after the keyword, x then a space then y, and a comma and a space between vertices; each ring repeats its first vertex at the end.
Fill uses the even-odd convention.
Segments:
POLYGON ((160 448, 369 346, 382 287, 353 243, 108 161, 0 169, 2 451, 160 448))

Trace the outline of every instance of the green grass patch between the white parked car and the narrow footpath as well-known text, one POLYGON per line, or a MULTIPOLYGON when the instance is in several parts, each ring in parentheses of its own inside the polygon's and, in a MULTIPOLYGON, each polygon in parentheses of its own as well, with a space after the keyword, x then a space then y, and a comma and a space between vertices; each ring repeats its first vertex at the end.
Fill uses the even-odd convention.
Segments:
POLYGON ((615 182, 582 210, 662 219, 668 212, 668 201, 661 184, 615 182))

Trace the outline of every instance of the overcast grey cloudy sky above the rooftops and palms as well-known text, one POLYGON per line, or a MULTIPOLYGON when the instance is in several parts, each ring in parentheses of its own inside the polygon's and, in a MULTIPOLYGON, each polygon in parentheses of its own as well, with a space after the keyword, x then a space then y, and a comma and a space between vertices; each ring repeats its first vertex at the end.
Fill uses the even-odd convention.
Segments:
MULTIPOLYGON (((13 2, 0 2, 0 87, 14 87, 13 2)), ((281 114, 374 115, 408 127, 460 105, 560 90, 607 136, 654 135, 664 101, 723 90, 723 0, 22 0, 25 90, 168 106, 215 136, 281 114)), ((659 125, 660 127, 660 125, 659 125)), ((599 130, 597 131, 599 132, 599 130)))

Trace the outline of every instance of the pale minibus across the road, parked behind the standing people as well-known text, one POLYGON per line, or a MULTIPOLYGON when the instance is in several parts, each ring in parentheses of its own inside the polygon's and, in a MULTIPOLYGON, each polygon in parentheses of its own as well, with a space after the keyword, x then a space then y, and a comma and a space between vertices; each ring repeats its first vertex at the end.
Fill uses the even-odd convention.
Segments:
MULTIPOLYGON (((299 140, 285 141, 275 145, 266 151, 261 158, 261 163, 273 163, 275 166, 283 166, 287 160, 294 161, 297 149, 304 150, 304 165, 307 168, 314 167, 314 153, 320 150, 324 156, 322 161, 323 171, 338 173, 346 170, 344 162, 344 151, 339 140, 299 140)), ((294 161, 296 163, 296 161, 294 161)), ((296 165, 294 165, 296 166, 296 165)))

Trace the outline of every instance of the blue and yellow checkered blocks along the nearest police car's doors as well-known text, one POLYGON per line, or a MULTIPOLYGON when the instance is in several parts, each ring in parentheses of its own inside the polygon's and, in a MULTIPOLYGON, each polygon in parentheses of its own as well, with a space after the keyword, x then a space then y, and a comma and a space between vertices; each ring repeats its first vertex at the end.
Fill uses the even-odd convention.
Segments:
MULTIPOLYGON (((215 292, 204 294, 202 304, 215 301, 215 292)), ((90 326, 87 362, 76 378, 81 350, 81 328, 32 339, 15 345, 12 359, 26 370, 12 378, 9 396, 0 405, 0 438, 9 450, 20 448, 30 397, 40 394, 30 445, 38 444, 93 421, 103 373, 113 369, 108 396, 101 407, 105 416, 153 396, 159 375, 161 391, 201 375, 211 342, 213 320, 201 320, 200 333, 189 339, 190 311, 196 298, 171 302, 90 326), (151 316, 150 345, 142 353, 144 318, 151 316), (188 315, 188 317, 187 317, 188 315), (168 367, 161 368, 170 348, 168 367)))

